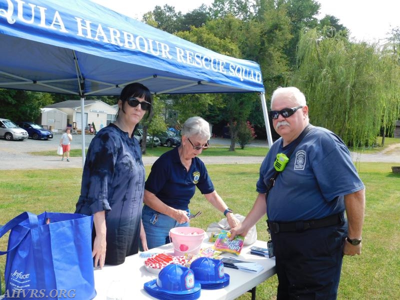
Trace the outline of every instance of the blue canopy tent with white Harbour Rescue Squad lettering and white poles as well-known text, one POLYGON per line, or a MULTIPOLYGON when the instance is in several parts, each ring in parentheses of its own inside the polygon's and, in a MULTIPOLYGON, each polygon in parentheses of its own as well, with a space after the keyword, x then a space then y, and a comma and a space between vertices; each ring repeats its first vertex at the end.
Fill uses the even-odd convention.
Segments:
MULTIPOLYGON (((0 87, 119 95, 257 92, 272 144, 260 67, 222 55, 87 0, 0 0, 0 87)), ((82 130, 82 156, 84 138, 82 130)))

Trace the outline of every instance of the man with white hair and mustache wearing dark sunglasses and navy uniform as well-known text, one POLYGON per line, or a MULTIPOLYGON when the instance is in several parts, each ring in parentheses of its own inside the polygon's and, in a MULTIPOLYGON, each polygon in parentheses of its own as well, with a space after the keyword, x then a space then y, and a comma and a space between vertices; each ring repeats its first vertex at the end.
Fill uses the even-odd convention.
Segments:
POLYGON ((266 212, 277 300, 336 299, 343 254, 361 253, 365 186, 343 141, 309 124, 298 88, 277 88, 269 115, 281 137, 260 166, 255 203, 231 238, 266 212))

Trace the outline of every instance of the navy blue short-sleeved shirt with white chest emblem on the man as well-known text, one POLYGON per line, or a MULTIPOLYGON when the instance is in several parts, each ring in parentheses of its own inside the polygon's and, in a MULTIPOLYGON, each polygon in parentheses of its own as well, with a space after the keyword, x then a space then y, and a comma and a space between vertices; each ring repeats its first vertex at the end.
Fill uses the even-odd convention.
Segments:
MULTIPOLYGON (((277 153, 288 153, 296 140, 283 146, 277 139, 264 158, 256 189, 266 192, 277 153)), ((266 212, 271 221, 323 218, 344 211, 343 196, 365 188, 343 141, 333 132, 312 128, 296 146, 269 190, 266 212)))

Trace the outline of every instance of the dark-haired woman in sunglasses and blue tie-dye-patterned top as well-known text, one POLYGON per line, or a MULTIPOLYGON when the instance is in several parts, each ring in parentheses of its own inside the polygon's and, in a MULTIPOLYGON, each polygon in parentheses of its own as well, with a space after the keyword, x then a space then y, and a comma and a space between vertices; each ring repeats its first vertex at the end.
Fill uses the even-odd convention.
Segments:
POLYGON ((118 100, 114 123, 90 142, 83 167, 76 213, 93 215, 94 266, 120 264, 138 252, 139 237, 147 249, 141 225, 144 166, 133 131, 151 109, 151 93, 140 83, 126 85, 118 100))

